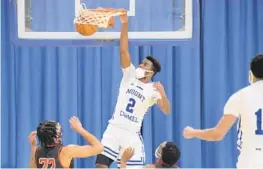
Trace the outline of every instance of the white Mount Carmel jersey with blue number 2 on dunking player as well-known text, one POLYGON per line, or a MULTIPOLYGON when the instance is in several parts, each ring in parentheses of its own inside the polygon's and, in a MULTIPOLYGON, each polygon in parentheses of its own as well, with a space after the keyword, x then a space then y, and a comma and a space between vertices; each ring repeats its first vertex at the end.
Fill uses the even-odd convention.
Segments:
POLYGON ((136 78, 132 64, 122 71, 119 96, 109 123, 131 132, 140 132, 144 115, 161 99, 161 95, 153 83, 143 83, 136 78))

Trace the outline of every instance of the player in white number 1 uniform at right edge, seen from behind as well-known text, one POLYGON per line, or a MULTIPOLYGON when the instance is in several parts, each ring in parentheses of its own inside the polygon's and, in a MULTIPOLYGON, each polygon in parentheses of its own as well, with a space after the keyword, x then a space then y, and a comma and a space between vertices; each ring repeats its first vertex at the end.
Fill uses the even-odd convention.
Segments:
POLYGON ((239 118, 237 168, 263 168, 263 55, 250 64, 251 85, 234 93, 224 107, 224 115, 214 128, 184 129, 185 138, 220 141, 239 118))

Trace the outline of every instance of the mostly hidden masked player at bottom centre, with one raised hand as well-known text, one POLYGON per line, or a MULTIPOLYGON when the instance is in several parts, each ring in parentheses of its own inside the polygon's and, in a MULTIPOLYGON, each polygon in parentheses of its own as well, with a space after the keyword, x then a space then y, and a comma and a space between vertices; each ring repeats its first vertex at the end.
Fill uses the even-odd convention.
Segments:
MULTIPOLYGON (((127 148, 121 156, 120 168, 126 168, 127 162, 134 154, 134 149, 127 148)), ((173 142, 163 142, 155 150, 156 162, 146 165, 143 168, 179 168, 177 162, 180 159, 181 152, 173 142)))

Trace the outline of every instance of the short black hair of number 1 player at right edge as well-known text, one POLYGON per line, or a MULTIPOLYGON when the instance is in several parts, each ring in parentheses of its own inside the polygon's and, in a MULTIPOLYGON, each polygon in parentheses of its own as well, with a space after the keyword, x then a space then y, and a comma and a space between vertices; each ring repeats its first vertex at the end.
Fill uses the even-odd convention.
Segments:
POLYGON ((258 54, 251 60, 250 70, 256 78, 263 79, 263 54, 258 54))

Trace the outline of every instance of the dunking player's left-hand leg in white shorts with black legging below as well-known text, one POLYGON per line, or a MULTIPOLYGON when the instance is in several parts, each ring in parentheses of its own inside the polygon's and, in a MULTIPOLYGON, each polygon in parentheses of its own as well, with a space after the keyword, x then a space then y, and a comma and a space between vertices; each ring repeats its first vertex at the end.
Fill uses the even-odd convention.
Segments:
POLYGON ((116 133, 114 128, 108 125, 101 140, 104 151, 97 156, 96 168, 109 168, 112 162, 117 160, 119 155, 119 143, 116 133))

